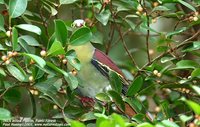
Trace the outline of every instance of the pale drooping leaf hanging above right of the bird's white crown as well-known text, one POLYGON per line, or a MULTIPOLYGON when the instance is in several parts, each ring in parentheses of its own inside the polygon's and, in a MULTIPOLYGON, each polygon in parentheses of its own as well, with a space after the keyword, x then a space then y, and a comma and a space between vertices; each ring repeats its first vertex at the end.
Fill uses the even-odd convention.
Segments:
POLYGON ((111 13, 109 9, 105 9, 101 11, 99 14, 95 15, 96 19, 99 22, 101 22, 104 26, 107 25, 110 16, 111 16, 111 13))

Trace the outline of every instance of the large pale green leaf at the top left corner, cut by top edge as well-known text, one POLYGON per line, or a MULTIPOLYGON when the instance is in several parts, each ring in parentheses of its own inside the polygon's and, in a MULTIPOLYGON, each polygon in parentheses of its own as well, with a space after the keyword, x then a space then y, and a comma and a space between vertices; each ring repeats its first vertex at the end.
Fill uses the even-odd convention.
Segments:
POLYGON ((27 0, 10 0, 9 15, 11 18, 16 18, 22 15, 27 7, 27 0))

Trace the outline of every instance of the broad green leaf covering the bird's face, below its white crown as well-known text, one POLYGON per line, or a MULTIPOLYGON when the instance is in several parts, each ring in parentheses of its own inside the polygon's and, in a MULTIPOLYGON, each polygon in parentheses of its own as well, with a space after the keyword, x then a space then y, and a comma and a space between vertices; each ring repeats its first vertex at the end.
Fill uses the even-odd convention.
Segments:
POLYGON ((88 43, 92 38, 92 33, 89 28, 81 27, 76 30, 70 37, 70 44, 74 46, 83 45, 88 43))

